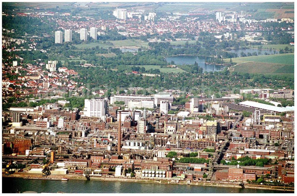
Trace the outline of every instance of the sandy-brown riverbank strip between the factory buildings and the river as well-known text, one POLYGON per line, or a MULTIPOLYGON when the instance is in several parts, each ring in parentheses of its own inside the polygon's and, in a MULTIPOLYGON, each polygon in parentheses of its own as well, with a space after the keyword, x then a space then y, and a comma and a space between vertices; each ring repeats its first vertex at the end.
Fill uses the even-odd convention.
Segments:
MULTIPOLYGON (((15 173, 10 176, 5 176, 2 174, 2 177, 7 178, 24 178, 24 179, 36 179, 39 180, 55 180, 57 178, 68 178, 69 180, 87 180, 83 176, 78 175, 72 175, 72 174, 66 174, 66 175, 54 175, 51 174, 47 178, 40 175, 40 174, 28 174, 28 173, 15 173), (30 177, 28 177, 30 176, 30 177), (50 179, 54 178, 54 179, 50 179)), ((142 179, 142 178, 129 178, 129 177, 114 177, 114 176, 91 176, 90 180, 95 181, 120 181, 120 182, 138 182, 138 183, 157 183, 157 184, 171 184, 171 181, 167 179, 142 179)), ((277 191, 286 191, 286 192, 294 192, 294 187, 280 187, 280 186, 266 186, 266 185, 254 185, 254 184, 244 184, 244 186, 239 186, 238 183, 231 183, 231 182, 208 182, 208 181, 200 181, 200 182, 191 182, 187 183, 186 179, 183 181, 180 181, 179 183, 172 183, 172 184, 186 184, 186 185, 192 185, 192 186, 219 186, 219 187, 230 187, 230 188, 247 188, 247 189, 271 189, 271 190, 277 190, 277 191)))

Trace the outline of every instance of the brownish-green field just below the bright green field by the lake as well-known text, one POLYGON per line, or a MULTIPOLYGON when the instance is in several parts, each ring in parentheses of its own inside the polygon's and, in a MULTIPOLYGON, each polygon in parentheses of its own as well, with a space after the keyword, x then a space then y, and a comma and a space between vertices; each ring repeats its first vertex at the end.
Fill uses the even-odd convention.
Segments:
POLYGON ((248 62, 230 67, 229 71, 262 74, 293 74, 294 65, 277 63, 248 62))

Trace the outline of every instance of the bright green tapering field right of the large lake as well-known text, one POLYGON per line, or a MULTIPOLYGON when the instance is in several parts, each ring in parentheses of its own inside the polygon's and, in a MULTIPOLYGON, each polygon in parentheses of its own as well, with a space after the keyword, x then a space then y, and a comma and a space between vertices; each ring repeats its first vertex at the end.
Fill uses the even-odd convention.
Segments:
MULTIPOLYGON (((230 61, 230 59, 224 59, 224 60, 230 61)), ((255 62, 263 62, 263 63, 294 65, 294 53, 238 57, 238 58, 233 58, 232 61, 234 63, 247 63, 247 62, 255 61, 255 62)))

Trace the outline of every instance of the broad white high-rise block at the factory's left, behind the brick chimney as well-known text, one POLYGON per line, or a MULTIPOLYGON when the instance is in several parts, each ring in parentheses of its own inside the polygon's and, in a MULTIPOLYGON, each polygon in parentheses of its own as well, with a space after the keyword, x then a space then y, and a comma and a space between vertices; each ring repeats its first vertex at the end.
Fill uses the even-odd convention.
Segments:
POLYGON ((88 117, 104 118, 107 114, 107 100, 85 99, 83 114, 88 117))

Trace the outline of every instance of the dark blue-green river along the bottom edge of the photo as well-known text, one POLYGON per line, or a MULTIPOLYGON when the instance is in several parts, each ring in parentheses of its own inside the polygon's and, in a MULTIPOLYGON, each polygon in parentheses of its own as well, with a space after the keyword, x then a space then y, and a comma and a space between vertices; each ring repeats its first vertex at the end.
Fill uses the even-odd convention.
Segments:
POLYGON ((2 193, 35 191, 37 193, 285 193, 284 191, 243 189, 220 186, 149 184, 119 181, 34 180, 2 178, 2 193))

